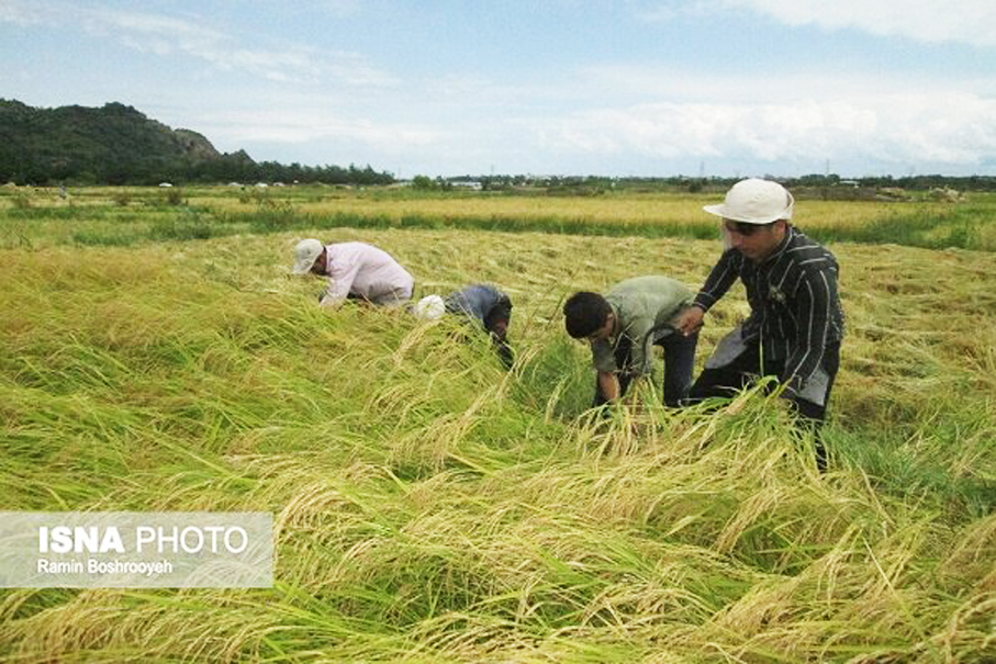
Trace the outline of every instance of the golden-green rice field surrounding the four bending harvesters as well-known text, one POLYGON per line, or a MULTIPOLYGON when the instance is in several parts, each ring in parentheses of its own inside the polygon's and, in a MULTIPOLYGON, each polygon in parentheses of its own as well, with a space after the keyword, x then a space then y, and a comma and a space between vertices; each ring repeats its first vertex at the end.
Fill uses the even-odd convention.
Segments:
MULTIPOLYGON (((586 410, 562 300, 697 288, 716 196, 115 193, 0 196, 2 509, 271 511, 276 584, 0 590, 0 661, 996 660, 991 200, 799 202, 853 234, 828 240, 849 327, 820 474, 761 393, 586 410), (868 230, 916 218, 909 245, 953 247, 868 230), (320 310, 289 277, 311 235, 380 246, 419 295, 501 285, 515 367, 452 320, 320 310)), ((700 367, 747 311, 735 286, 700 367)))

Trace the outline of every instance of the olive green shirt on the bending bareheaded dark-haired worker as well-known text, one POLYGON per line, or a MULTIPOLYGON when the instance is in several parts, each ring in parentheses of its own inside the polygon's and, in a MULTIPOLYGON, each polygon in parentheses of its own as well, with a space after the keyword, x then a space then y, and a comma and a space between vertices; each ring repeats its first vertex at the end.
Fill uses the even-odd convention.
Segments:
POLYGON ((595 369, 616 372, 625 369, 635 374, 650 373, 653 354, 651 346, 660 325, 673 323, 678 314, 692 303, 695 294, 680 281, 667 277, 636 277, 622 281, 605 294, 616 316, 616 335, 592 341, 592 362, 595 369), (654 330, 656 333, 656 330, 654 330), (630 363, 616 367, 614 349, 620 337, 633 342, 630 363))

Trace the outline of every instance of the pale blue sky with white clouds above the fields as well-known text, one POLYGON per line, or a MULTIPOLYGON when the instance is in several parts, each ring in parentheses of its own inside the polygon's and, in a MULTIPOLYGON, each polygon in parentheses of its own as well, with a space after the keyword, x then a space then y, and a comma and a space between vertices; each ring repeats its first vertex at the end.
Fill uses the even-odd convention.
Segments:
POLYGON ((996 175, 994 0, 0 0, 0 98, 416 175, 996 175))

